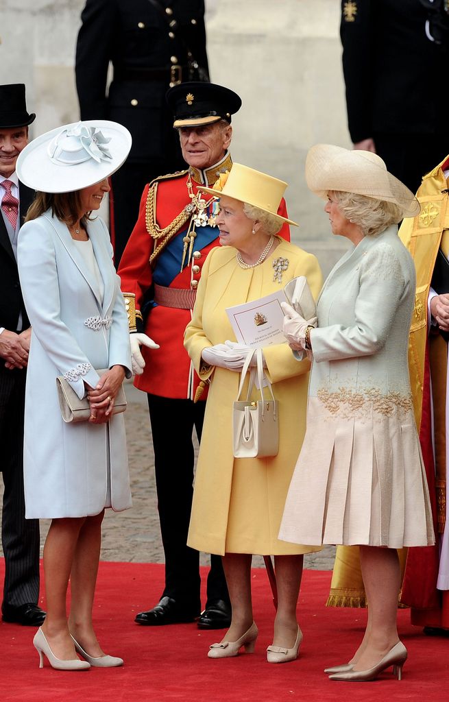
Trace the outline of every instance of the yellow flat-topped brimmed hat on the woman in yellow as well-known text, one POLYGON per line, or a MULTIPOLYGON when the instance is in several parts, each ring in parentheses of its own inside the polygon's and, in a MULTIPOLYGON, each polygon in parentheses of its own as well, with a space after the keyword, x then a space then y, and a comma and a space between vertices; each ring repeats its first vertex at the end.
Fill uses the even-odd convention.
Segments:
POLYGON ((198 190, 208 192, 210 195, 215 195, 215 197, 226 195, 234 198, 234 200, 247 202, 248 205, 253 205, 264 212, 268 212, 281 222, 287 222, 297 227, 296 222, 286 217, 281 217, 277 213, 286 187, 287 183, 284 183, 283 180, 267 176, 266 173, 260 173, 260 171, 255 171, 254 168, 248 168, 248 166, 232 164, 229 174, 221 174, 221 177, 214 183, 213 187, 199 187, 198 190), (225 176, 227 176, 225 185, 221 187, 225 176))

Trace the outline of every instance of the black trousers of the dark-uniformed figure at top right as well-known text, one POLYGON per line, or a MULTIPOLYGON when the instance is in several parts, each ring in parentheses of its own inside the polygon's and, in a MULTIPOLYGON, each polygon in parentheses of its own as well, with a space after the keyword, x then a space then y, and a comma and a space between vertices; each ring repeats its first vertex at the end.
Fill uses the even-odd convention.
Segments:
POLYGON ((376 152, 390 173, 416 192, 422 176, 449 154, 449 133, 373 135, 376 152))

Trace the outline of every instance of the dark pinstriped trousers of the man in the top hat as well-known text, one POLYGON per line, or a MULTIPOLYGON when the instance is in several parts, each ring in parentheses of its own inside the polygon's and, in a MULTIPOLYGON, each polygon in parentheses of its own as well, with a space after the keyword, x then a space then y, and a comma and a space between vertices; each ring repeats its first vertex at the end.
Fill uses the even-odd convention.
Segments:
POLYGON ((4 497, 1 543, 5 556, 4 604, 19 607, 39 598, 39 519, 25 519, 23 416, 26 371, 0 361, 0 446, 4 497))

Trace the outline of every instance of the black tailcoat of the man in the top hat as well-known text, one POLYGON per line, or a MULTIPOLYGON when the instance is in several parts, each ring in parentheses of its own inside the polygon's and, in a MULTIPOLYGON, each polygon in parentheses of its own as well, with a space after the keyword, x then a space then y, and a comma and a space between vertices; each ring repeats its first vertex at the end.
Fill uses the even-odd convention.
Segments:
MULTIPOLYGON (((33 198, 34 190, 30 190, 23 183, 19 183, 19 216, 21 223, 23 223, 23 218, 33 198)), ((22 312, 22 328, 27 329, 29 321, 25 312, 22 291, 20 290, 18 267, 4 218, 0 215, 0 326, 4 326, 8 331, 15 331, 20 312, 22 312)))

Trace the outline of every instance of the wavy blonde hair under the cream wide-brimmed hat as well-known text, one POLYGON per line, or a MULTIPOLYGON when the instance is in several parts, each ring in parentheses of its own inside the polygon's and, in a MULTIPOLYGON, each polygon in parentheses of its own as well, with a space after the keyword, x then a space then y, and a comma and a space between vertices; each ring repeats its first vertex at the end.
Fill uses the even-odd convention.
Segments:
POLYGON ((340 190, 330 190, 328 194, 337 203, 342 215, 360 227, 367 237, 380 234, 403 218, 401 208, 394 202, 340 190))

